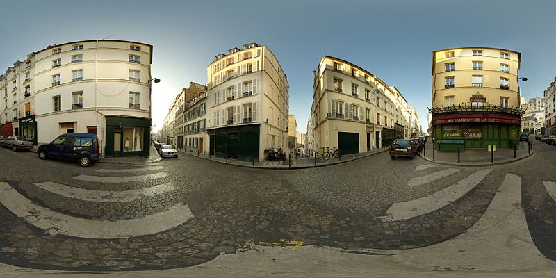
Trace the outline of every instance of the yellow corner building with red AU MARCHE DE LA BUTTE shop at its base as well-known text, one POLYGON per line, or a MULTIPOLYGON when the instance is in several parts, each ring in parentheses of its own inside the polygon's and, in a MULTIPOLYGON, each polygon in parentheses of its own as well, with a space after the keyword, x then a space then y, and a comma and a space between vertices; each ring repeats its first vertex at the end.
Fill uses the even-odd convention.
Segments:
POLYGON ((521 124, 521 54, 491 47, 432 53, 432 131, 440 150, 513 147, 521 124))

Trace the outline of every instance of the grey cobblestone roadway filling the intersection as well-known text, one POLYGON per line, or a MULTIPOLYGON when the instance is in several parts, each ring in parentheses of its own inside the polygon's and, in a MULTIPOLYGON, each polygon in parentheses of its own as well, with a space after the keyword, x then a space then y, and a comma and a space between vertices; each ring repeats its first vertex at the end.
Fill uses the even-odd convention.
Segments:
POLYGON ((544 256, 555 260, 556 201, 543 181, 556 181, 556 173, 540 165, 553 167, 550 159, 556 148, 536 143, 534 149, 530 158, 493 167, 391 160, 383 153, 287 171, 223 165, 195 156, 82 168, 0 149, 0 161, 9 161, 0 170, 0 261, 54 270, 150 270, 198 265, 261 245, 318 245, 345 252, 425 247, 470 229, 507 173, 523 179, 532 238, 544 256), (484 179, 477 175, 480 170, 484 179), (466 184, 468 190, 450 193, 450 186, 468 177, 479 178, 466 184), (119 182, 107 182, 115 180, 119 182), (47 190, 40 186, 45 182, 72 193, 47 190), (161 185, 170 189, 152 189, 161 185), (13 204, 1 198, 7 193, 28 201, 13 204), (422 205, 427 198, 443 203, 427 211, 422 205), (186 209, 173 213, 177 206, 186 209), (411 206, 423 212, 412 214, 411 206), (410 211, 404 212, 406 208, 410 211), (395 209, 411 217, 393 217, 395 209), (149 228, 159 231, 139 227, 126 235, 126 225, 153 215, 156 222, 149 228), (78 220, 90 230, 72 224, 78 220), (56 229, 39 223, 54 223, 56 229), (120 236, 90 236, 107 224, 121 229, 120 236))

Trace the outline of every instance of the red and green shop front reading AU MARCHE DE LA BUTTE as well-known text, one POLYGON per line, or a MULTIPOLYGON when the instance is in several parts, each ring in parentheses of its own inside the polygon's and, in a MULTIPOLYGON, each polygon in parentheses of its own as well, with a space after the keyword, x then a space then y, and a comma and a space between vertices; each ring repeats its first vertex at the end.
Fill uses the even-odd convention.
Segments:
POLYGON ((519 144, 521 116, 516 113, 442 113, 432 115, 434 145, 439 151, 482 149, 519 144))

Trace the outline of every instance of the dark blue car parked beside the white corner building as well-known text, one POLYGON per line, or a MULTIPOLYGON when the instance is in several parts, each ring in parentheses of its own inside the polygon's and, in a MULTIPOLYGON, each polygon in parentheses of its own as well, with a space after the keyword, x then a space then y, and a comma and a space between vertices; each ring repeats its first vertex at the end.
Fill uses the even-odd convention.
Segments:
POLYGON ((40 145, 37 154, 40 159, 78 161, 82 167, 89 167, 94 161, 101 159, 99 138, 92 133, 62 134, 50 144, 40 145))

